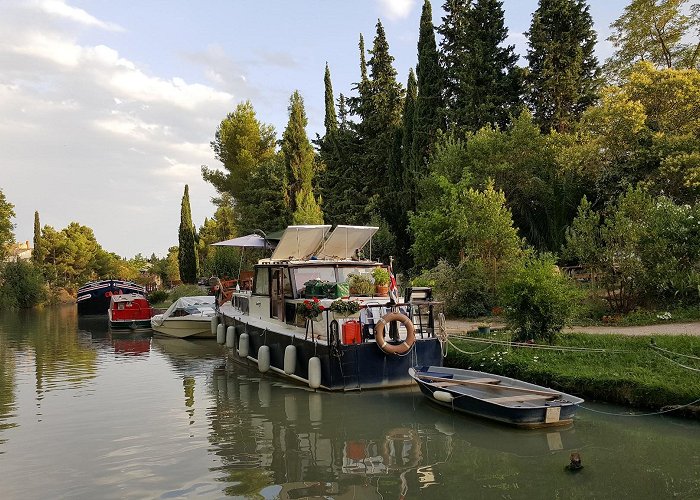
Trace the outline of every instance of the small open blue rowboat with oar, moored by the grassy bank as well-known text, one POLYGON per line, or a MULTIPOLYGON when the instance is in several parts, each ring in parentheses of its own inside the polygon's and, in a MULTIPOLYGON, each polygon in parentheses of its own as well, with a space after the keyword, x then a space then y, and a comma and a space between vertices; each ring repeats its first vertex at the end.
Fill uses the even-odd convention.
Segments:
POLYGON ((409 373, 431 401, 519 427, 568 425, 583 403, 547 387, 474 370, 422 366, 409 373))

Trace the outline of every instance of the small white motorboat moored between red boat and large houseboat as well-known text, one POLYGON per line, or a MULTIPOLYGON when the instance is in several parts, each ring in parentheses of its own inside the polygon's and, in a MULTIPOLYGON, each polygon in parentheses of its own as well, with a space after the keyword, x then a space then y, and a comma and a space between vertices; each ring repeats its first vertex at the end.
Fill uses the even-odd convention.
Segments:
POLYGON ((215 298, 211 295, 180 297, 163 314, 151 318, 154 332, 169 337, 215 338, 211 320, 216 314, 215 298))

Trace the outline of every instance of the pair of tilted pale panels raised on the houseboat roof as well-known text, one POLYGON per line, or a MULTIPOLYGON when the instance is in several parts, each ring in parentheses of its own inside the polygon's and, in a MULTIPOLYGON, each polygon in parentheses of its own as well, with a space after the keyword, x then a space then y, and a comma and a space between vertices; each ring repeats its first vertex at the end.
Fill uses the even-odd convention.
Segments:
POLYGON ((379 228, 374 226, 289 226, 270 258, 271 261, 317 259, 350 260, 379 228))

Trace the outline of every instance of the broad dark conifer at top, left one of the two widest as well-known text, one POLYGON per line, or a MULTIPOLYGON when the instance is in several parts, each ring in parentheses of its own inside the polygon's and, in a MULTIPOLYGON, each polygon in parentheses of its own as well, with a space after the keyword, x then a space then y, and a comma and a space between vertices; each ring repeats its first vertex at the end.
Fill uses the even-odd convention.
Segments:
POLYGON ((522 107, 522 71, 514 46, 503 46, 503 2, 448 0, 443 9, 438 31, 448 123, 459 135, 486 125, 505 128, 522 107))

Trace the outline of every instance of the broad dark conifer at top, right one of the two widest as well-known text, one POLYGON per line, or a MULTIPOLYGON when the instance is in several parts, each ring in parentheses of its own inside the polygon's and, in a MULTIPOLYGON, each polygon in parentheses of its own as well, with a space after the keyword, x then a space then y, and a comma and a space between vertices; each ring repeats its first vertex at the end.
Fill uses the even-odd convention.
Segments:
POLYGON ((528 101, 543 132, 570 130, 601 84, 596 32, 585 0, 540 0, 526 33, 528 101))

